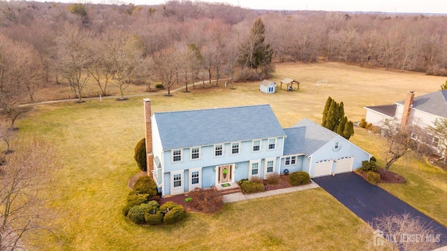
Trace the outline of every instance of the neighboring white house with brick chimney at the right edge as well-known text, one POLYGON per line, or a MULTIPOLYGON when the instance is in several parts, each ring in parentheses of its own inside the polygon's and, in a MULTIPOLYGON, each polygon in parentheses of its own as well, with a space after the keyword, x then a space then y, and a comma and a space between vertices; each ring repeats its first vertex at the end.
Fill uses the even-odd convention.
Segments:
MULTIPOLYGON (((447 90, 416 97, 414 92, 409 92, 403 101, 384 106, 367 106, 365 109, 367 110, 366 121, 375 125, 381 126, 384 122, 394 121, 401 127, 406 127, 406 125, 430 127, 437 119, 447 119, 447 90)), ((439 151, 437 149, 439 138, 431 137, 426 143, 439 151)))

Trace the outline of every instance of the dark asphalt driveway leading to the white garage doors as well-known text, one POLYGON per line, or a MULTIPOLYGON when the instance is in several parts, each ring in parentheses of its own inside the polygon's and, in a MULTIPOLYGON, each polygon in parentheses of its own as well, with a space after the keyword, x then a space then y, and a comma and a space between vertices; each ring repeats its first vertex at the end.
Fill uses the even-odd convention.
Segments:
MULTIPOLYGON (((430 224, 441 234, 441 243, 447 245, 447 228, 434 222, 430 217, 420 213, 404 201, 397 199, 376 185, 372 185, 356 173, 342 173, 335 176, 313 178, 316 184, 353 211, 369 224, 375 217, 382 215, 411 213, 430 224)), ((373 226, 374 227, 374 226, 373 226)))

